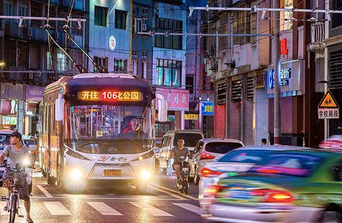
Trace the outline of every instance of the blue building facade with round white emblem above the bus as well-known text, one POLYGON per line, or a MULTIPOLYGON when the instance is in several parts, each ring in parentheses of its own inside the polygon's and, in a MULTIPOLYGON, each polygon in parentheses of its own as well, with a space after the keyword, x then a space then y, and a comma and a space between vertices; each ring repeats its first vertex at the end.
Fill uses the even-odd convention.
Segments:
MULTIPOLYGON (((86 0, 85 49, 108 72, 131 72, 131 1, 86 0)), ((89 72, 97 72, 88 60, 89 72)))

